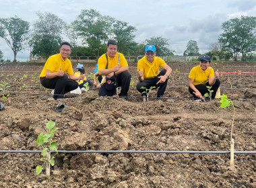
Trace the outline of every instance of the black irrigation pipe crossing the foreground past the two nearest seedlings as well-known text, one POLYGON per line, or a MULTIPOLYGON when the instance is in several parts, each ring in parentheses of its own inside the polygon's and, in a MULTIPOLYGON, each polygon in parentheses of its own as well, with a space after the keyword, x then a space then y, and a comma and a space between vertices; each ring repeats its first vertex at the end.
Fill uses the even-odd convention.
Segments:
MULTIPOLYGON (((41 153, 42 150, 0 150, 0 153, 41 153)), ((51 153, 56 153, 51 150, 51 153)), ((179 150, 58 150, 58 153, 188 153, 230 154, 230 151, 179 151, 179 150)), ((256 151, 234 151, 234 154, 256 154, 256 151)))

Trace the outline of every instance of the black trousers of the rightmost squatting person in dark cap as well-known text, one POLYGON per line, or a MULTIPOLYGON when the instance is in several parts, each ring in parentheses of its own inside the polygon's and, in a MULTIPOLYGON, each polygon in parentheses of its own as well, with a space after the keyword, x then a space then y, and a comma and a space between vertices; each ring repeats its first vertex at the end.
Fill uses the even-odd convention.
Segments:
MULTIPOLYGON (((200 91, 201 95, 203 96, 205 93, 210 94, 206 86, 210 86, 208 82, 205 83, 205 84, 195 85, 195 88, 198 91, 200 91)), ((211 88, 211 90, 213 90, 213 92, 212 92, 212 99, 215 98, 215 95, 216 95, 219 87, 220 87, 220 80, 216 79, 214 85, 212 85, 212 88, 211 88)), ((197 98, 197 96, 195 96, 195 94, 193 92, 195 92, 195 91, 193 91, 193 89, 191 89, 191 87, 189 87, 189 93, 191 93, 194 98, 197 98)))

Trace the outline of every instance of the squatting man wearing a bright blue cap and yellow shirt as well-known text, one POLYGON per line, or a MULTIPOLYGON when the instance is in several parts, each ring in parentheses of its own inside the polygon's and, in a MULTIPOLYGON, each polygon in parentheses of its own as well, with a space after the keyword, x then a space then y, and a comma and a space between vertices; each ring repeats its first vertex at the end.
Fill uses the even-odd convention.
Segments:
POLYGON ((156 57, 156 47, 154 45, 146 46, 145 56, 137 62, 137 71, 139 76, 137 91, 146 95, 146 89, 159 87, 157 97, 163 97, 172 68, 162 58, 156 57), (162 71, 159 71, 160 66, 164 68, 162 71), (146 87, 146 89, 141 89, 141 87, 146 87))

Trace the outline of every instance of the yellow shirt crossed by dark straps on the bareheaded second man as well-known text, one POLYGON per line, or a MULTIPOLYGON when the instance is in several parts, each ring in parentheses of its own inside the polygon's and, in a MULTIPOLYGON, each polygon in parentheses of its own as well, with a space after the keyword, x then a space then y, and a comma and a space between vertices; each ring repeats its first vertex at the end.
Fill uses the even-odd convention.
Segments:
MULTIPOLYGON (((125 56, 119 52, 117 52, 117 54, 115 54, 114 58, 111 59, 108 56, 108 69, 109 68, 113 68, 115 66, 117 66, 118 64, 118 54, 120 54, 120 66, 128 66, 127 60, 125 59, 125 56)), ((98 71, 100 69, 106 69, 106 54, 103 54, 102 56, 100 56, 100 58, 98 58, 98 71)), ((104 81, 105 83, 106 81, 104 81)))

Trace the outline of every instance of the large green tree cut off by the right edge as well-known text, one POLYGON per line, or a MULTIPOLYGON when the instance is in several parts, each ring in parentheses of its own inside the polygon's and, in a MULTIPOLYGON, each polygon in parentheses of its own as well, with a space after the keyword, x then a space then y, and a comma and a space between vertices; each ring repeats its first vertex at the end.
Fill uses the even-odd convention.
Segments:
POLYGON ((239 53, 243 59, 247 54, 256 50, 256 17, 241 16, 229 19, 222 23, 224 33, 220 35, 219 42, 225 51, 233 53, 237 59, 239 53))

